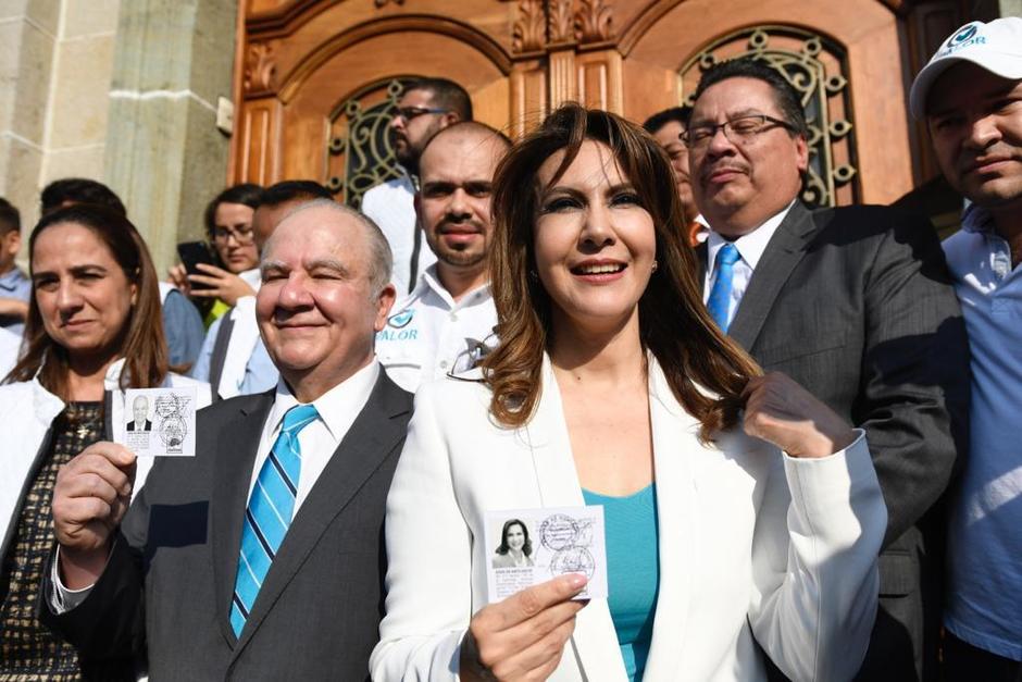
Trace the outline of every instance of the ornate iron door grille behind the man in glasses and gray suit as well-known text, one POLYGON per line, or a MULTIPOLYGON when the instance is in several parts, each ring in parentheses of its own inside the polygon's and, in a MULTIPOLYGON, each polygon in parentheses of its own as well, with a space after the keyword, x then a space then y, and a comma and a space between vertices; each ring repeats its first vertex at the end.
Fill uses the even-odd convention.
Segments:
POLYGON ((703 71, 738 57, 763 61, 801 96, 809 124, 809 172, 802 184, 802 201, 810 207, 857 202, 861 191, 845 49, 795 26, 744 28, 715 39, 682 66, 683 100, 691 104, 703 71))

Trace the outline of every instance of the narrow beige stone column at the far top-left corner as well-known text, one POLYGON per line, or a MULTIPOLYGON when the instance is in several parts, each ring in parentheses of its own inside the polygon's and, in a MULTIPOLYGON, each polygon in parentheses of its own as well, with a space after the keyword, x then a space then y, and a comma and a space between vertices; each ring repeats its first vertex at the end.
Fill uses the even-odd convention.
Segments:
POLYGON ((60 3, 0 0, 0 196, 27 234, 39 206, 47 101, 60 3))

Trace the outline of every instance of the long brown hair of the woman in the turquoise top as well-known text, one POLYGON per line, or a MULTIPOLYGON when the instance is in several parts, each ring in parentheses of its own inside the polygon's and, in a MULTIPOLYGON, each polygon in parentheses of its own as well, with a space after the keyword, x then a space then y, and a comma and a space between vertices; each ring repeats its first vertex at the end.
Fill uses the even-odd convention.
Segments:
POLYGON ((500 345, 483 362, 493 390, 490 412, 507 426, 520 426, 538 401, 552 324, 550 296, 535 275, 534 226, 545 189, 537 173, 563 149, 556 183, 585 140, 611 149, 652 216, 658 269, 638 302, 640 340, 659 361, 678 402, 701 422, 700 437, 709 441, 736 424, 740 394, 760 369, 718 328, 702 303, 695 251, 685 238, 684 213, 663 150, 628 121, 574 103, 551 113, 515 145, 494 178, 490 278, 500 345))

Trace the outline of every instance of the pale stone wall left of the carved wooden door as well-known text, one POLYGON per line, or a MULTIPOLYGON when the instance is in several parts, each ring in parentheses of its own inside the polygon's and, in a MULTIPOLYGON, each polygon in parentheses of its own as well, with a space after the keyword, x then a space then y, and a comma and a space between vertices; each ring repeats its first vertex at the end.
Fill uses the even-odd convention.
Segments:
POLYGON ((42 186, 84 176, 124 199, 161 273, 200 237, 226 178, 236 16, 237 0, 0 0, 0 196, 23 224, 42 186))

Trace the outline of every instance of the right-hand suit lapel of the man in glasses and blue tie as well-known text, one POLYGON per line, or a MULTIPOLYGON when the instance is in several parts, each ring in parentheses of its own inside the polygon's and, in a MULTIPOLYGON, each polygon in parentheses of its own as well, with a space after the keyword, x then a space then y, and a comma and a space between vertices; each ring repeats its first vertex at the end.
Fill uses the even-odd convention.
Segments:
POLYGON ((743 348, 752 348, 781 287, 805 256, 806 244, 815 230, 812 213, 796 201, 766 245, 727 328, 727 335, 743 348))

